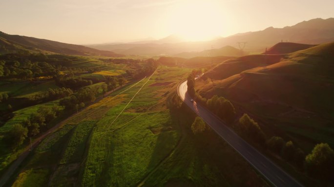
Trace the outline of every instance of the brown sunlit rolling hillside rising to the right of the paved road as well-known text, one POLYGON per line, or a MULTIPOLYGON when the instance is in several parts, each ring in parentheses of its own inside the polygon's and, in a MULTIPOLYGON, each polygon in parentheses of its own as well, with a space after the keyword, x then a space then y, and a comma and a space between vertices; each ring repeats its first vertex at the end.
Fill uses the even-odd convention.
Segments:
POLYGON ((277 56, 270 63, 264 56, 225 61, 205 74, 209 79, 196 81, 196 90, 207 98, 217 94, 230 99, 269 134, 292 139, 304 150, 319 142, 334 146, 334 42, 277 56))

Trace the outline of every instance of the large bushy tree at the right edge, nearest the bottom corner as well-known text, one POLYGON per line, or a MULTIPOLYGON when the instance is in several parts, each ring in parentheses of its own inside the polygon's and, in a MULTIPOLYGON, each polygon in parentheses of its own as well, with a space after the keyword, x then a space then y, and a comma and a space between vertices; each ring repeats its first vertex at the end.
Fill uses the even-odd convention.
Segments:
POLYGON ((305 163, 311 175, 334 178, 334 150, 327 143, 315 145, 312 152, 306 156, 305 163))

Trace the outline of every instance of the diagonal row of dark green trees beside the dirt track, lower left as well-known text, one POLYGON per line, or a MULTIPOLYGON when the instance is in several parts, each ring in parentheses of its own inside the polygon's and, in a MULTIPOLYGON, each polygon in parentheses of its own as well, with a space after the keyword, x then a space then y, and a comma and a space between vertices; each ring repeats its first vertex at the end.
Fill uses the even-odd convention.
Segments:
POLYGON ((14 124, 5 139, 12 148, 20 146, 29 136, 35 136, 40 132, 46 131, 46 124, 59 116, 61 109, 57 106, 41 106, 39 110, 32 113, 28 119, 22 123, 14 124))

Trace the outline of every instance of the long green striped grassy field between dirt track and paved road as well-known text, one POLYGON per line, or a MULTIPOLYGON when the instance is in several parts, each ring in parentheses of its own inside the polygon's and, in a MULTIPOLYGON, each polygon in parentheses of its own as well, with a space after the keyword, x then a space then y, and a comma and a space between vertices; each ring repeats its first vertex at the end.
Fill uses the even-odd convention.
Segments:
POLYGON ((35 171, 50 186, 266 186, 214 133, 191 133, 193 112, 175 117, 167 109, 167 95, 190 71, 159 67, 71 117, 41 142, 14 184, 37 180, 35 171))

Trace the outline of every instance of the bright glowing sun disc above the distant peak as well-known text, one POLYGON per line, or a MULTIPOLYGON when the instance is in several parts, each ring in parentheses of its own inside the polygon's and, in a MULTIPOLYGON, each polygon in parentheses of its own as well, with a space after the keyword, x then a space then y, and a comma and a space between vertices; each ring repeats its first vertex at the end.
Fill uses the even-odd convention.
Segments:
POLYGON ((189 41, 212 39, 224 33, 224 10, 217 1, 186 0, 169 12, 171 32, 189 41))

